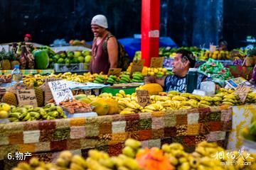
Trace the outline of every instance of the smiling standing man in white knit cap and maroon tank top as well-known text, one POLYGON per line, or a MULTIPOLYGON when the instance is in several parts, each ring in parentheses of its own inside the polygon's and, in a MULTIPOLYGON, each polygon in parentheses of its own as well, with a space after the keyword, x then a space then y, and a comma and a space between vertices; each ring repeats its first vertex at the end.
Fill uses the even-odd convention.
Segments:
POLYGON ((117 68, 117 39, 107 30, 107 18, 97 15, 92 18, 91 28, 95 38, 92 42, 90 72, 107 74, 110 68, 117 68), (105 47, 106 46, 106 47, 105 47))

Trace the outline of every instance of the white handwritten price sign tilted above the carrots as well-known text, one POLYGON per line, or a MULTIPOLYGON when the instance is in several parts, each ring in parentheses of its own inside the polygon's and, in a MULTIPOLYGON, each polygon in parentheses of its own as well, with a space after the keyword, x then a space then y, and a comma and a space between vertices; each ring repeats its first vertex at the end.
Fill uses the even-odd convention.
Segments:
POLYGON ((59 104, 61 101, 72 100, 74 98, 72 91, 64 80, 50 81, 48 82, 48 85, 56 104, 59 104))

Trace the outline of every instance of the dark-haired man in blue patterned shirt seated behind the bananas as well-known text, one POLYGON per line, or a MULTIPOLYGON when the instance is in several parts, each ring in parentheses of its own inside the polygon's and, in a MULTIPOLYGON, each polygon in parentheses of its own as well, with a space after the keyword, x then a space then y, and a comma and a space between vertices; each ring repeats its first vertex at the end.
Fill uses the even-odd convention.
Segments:
MULTIPOLYGON (((196 58, 193 56, 192 52, 188 50, 178 50, 176 56, 174 57, 174 62, 172 63, 174 75, 162 77, 156 79, 156 77, 148 77, 145 83, 157 83, 164 87, 166 92, 168 91, 179 91, 186 92, 186 74, 189 68, 195 67, 196 58)), ((198 88, 203 80, 204 75, 198 74, 198 88)))

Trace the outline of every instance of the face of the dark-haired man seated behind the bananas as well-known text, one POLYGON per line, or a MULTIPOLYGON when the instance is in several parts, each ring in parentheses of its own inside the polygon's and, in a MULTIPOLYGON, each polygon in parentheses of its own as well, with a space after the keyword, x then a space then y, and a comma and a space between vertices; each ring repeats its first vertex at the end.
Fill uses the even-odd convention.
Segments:
POLYGON ((182 59, 181 58, 181 54, 176 54, 176 56, 174 57, 174 62, 172 63, 173 65, 173 69, 172 72, 174 72, 174 74, 179 74, 181 72, 184 72, 184 69, 186 67, 189 67, 189 62, 186 59, 182 59))

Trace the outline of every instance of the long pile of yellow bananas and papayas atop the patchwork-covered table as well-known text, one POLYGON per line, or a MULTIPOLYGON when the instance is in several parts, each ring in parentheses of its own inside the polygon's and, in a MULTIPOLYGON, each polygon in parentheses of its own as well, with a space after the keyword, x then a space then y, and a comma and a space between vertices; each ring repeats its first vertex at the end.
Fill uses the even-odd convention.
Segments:
MULTIPOLYGON (((169 91, 168 93, 161 93, 163 91, 159 84, 146 84, 140 86, 138 89, 144 89, 149 91, 150 100, 147 106, 144 108, 139 105, 136 94, 125 94, 123 90, 120 90, 116 96, 112 94, 100 94, 100 96, 86 96, 80 95, 78 100, 83 100, 86 103, 93 101, 94 110, 98 115, 106 114, 128 114, 128 113, 144 113, 154 111, 176 111, 181 109, 190 108, 207 108, 210 106, 235 106, 242 104, 238 95, 234 94, 233 89, 219 89, 215 96, 198 96, 188 93, 179 93, 178 91, 169 91), (102 100, 102 98, 104 100, 102 100), (113 100, 110 105, 107 101, 113 100), (114 103, 117 101, 117 103, 114 103), (109 113, 110 108, 113 112, 109 113)), ((256 93, 250 92, 247 95, 245 103, 256 103, 256 93)), ((92 103, 91 103, 92 104, 92 103)))

